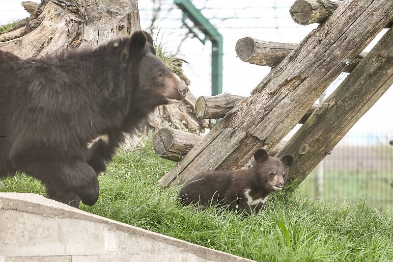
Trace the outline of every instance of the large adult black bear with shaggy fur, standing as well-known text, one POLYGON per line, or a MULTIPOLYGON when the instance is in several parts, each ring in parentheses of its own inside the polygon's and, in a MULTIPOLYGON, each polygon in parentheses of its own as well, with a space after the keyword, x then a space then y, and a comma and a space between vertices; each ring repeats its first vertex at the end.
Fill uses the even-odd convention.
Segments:
POLYGON ((95 50, 19 59, 0 51, 0 178, 39 179, 54 200, 94 205, 97 175, 123 131, 157 105, 178 102, 187 86, 155 56, 143 31, 95 50))

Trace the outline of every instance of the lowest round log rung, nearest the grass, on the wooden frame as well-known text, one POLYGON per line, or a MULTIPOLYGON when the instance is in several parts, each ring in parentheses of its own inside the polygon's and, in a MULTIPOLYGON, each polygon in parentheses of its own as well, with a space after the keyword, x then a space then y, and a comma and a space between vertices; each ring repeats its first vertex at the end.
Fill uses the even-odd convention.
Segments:
POLYGON ((153 135, 153 151, 159 157, 179 161, 201 139, 199 135, 165 127, 153 135))

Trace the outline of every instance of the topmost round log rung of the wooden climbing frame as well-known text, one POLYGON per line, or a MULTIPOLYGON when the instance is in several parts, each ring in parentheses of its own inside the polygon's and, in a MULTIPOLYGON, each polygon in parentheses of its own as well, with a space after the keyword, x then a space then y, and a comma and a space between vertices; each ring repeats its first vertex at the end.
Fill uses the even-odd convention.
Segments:
MULTIPOLYGON (((336 11, 341 2, 332 0, 296 0, 289 9, 289 13, 293 21, 299 25, 321 24, 336 11)), ((391 20, 385 28, 390 28, 392 23, 393 21, 391 20)))

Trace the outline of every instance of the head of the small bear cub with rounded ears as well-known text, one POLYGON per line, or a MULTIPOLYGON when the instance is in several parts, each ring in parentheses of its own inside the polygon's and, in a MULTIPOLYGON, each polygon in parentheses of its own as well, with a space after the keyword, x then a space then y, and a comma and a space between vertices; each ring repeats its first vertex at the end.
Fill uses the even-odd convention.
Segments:
POLYGON ((285 177, 293 161, 292 155, 270 157, 265 150, 259 149, 254 153, 253 170, 268 192, 280 191, 285 185, 285 177))

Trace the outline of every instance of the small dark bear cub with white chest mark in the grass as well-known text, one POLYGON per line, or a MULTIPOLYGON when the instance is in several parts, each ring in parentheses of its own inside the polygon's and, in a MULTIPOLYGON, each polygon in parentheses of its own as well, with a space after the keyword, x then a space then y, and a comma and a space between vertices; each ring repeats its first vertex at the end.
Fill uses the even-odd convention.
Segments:
POLYGON ((293 164, 292 155, 270 157, 263 149, 254 154, 247 169, 209 171, 197 175, 180 190, 179 202, 202 207, 227 206, 229 210, 259 212, 269 195, 280 191, 293 164))

